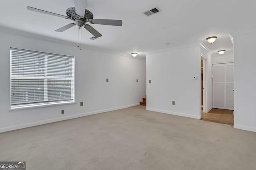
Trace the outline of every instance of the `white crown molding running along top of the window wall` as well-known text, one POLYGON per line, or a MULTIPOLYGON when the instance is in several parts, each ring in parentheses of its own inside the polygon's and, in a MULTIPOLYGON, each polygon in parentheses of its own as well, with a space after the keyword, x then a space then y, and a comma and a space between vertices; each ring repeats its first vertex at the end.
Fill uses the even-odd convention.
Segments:
MULTIPOLYGON (((26 32, 26 31, 19 30, 19 29, 4 27, 2 25, 0 25, 0 31, 3 32, 3 33, 10 33, 10 34, 19 35, 19 36, 22 36, 22 37, 40 39, 40 40, 43 40, 43 41, 50 41, 50 42, 53 42, 53 43, 58 43, 58 44, 63 44, 63 45, 70 45, 70 46, 74 46, 74 47, 77 46, 77 44, 72 42, 72 41, 66 41, 66 40, 62 40, 62 39, 57 39, 57 38, 53 38, 53 37, 48 37, 48 36, 44 36, 44 35, 35 34, 35 33, 29 33, 29 32, 26 32)), ((144 58, 132 57, 131 55, 128 55, 128 54, 125 54, 125 53, 119 53, 117 51, 112 51, 112 50, 108 50, 108 49, 104 49, 104 48, 100 48, 100 47, 95 47, 95 46, 90 46, 90 45, 84 45, 84 44, 82 44, 82 49, 88 49, 88 50, 92 50, 92 51, 100 51, 100 52, 103 52, 103 53, 108 53, 108 54, 112 54, 112 55, 119 55, 119 56, 122 56, 122 57, 128 57, 128 58, 137 59, 137 60, 143 60, 144 59, 144 58)))

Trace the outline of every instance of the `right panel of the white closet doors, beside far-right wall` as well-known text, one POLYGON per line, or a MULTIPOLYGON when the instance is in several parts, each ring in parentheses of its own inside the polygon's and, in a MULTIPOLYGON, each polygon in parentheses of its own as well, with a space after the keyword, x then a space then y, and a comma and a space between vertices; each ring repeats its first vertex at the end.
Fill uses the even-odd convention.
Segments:
POLYGON ((234 63, 226 64, 226 109, 234 110, 234 63))

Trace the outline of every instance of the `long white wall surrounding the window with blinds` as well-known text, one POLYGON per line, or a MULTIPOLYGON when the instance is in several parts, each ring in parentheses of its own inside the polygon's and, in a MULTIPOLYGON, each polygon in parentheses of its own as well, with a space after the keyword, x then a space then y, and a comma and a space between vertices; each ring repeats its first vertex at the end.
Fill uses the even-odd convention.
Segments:
POLYGON ((146 94, 146 61, 0 32, 0 132, 138 105, 146 94), (10 47, 75 56, 77 104, 10 109, 10 47), (106 78, 109 82, 106 83, 106 78), (138 79, 138 83, 136 82, 138 79), (80 106, 84 102, 84 106, 80 106), (65 113, 62 115, 61 110, 65 113))

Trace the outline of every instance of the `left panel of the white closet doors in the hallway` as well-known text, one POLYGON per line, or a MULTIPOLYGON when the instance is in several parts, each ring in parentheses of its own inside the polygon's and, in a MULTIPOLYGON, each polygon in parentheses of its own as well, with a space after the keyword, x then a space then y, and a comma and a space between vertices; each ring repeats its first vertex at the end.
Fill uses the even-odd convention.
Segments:
POLYGON ((225 64, 213 64, 213 107, 225 109, 225 64))

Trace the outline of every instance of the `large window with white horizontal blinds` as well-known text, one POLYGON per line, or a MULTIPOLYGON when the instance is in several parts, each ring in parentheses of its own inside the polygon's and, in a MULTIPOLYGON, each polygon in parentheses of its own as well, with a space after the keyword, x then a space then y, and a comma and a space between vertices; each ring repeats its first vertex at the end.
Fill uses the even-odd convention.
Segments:
POLYGON ((74 57, 10 49, 11 109, 74 102, 74 57))

